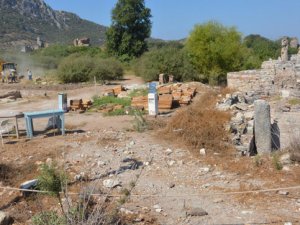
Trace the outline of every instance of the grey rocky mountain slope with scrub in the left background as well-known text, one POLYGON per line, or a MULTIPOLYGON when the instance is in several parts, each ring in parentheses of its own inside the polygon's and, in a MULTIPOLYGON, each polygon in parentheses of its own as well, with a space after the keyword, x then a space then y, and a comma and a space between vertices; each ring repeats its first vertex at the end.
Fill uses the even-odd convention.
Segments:
POLYGON ((0 0, 2 49, 35 43, 38 36, 48 43, 61 44, 89 37, 92 45, 100 45, 105 30, 76 14, 53 10, 43 0, 0 0))

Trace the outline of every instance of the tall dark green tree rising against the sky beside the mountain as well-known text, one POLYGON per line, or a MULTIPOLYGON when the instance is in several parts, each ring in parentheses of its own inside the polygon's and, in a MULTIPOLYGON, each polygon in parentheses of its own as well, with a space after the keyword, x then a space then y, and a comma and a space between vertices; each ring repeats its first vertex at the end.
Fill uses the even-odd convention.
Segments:
POLYGON ((151 33, 151 11, 144 0, 118 0, 112 10, 112 25, 106 32, 106 48, 121 59, 142 55, 151 33))

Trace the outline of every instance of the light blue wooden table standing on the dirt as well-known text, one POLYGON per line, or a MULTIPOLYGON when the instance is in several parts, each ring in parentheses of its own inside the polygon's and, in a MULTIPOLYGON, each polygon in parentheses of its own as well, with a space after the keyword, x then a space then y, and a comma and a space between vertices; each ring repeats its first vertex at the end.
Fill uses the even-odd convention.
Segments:
POLYGON ((61 109, 53 109, 53 110, 47 110, 47 111, 39 111, 39 112, 25 112, 25 123, 26 123, 26 132, 27 137, 32 138, 33 137, 33 123, 32 119, 35 118, 44 118, 44 117, 54 117, 58 116, 60 118, 60 130, 62 135, 65 135, 65 112, 61 109))

